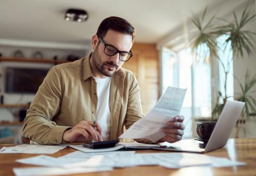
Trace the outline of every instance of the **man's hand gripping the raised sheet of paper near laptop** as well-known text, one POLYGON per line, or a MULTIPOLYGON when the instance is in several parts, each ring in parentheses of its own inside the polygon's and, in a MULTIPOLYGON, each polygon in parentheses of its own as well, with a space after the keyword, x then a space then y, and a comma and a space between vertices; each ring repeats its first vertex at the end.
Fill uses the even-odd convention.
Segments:
POLYGON ((166 134, 165 137, 159 140, 159 142, 177 142, 182 139, 184 134, 183 130, 185 125, 183 124, 183 116, 175 116, 172 121, 166 123, 166 127, 162 128, 162 131, 166 134))

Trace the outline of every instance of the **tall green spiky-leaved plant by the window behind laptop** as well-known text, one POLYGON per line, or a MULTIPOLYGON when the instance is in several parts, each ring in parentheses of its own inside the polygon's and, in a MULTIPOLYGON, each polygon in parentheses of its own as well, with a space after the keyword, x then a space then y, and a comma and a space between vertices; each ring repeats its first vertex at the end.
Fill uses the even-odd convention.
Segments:
MULTIPOLYGON (((233 60, 233 56, 243 57, 244 54, 250 55, 253 50, 255 50, 256 42, 253 40, 253 37, 256 36, 256 33, 249 30, 244 30, 244 27, 252 22, 255 19, 255 14, 251 14, 251 11, 246 7, 243 12, 241 19, 237 18, 237 15, 233 12, 233 21, 227 21, 225 19, 216 18, 213 15, 209 21, 204 23, 205 15, 207 12, 207 7, 205 8, 202 17, 198 17, 198 15, 193 14, 191 21, 197 28, 196 34, 190 39, 191 41, 191 49, 195 57, 198 55, 204 55, 204 59, 206 59, 206 52, 209 52, 210 62, 213 63, 213 59, 218 59, 220 66, 225 70, 225 79, 224 79, 224 92, 218 91, 217 101, 215 105, 213 105, 211 118, 209 121, 217 120, 226 101, 231 97, 227 94, 227 78, 229 73, 229 65, 230 60, 227 60, 227 65, 223 63, 223 60, 218 56, 218 48, 227 48, 227 45, 231 45, 230 53, 233 53, 231 56, 231 60, 233 60), (225 25, 216 26, 214 25, 214 20, 222 20, 225 22, 225 25), (223 42, 222 46, 217 45, 217 37, 221 35, 228 35, 225 42, 223 42), (207 51, 202 50, 201 46, 204 45, 207 47, 207 51)), ((229 55, 228 54, 228 55, 229 55)), ((233 75, 234 76, 234 75, 233 75)), ((235 76, 234 76, 235 77, 235 76)), ((238 79, 235 77, 238 81, 238 79)), ((256 114, 256 99, 252 97, 250 94, 253 92, 253 86, 256 85, 256 75, 250 77, 249 71, 247 71, 245 75, 245 82, 239 82, 241 93, 234 95, 234 99, 238 101, 245 102, 245 107, 242 111, 241 117, 239 117, 236 127, 236 137, 238 137, 239 129, 241 129, 241 125, 244 124, 247 119, 250 118, 251 114, 256 114)), ((255 91, 255 90, 254 90, 255 91)))

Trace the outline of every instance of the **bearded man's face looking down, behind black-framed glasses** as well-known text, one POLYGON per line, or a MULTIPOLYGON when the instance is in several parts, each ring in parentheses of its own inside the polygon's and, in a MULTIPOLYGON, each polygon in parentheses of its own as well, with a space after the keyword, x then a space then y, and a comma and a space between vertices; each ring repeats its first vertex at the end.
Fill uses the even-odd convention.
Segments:
MULTIPOLYGON (((102 39, 106 44, 114 46, 119 51, 129 52, 132 47, 131 35, 122 34, 114 30, 108 30, 102 39)), ((112 76, 123 65, 124 61, 119 60, 119 53, 113 56, 104 53, 105 45, 99 42, 97 35, 92 38, 92 48, 94 51, 90 62, 93 76, 101 78, 112 76)))

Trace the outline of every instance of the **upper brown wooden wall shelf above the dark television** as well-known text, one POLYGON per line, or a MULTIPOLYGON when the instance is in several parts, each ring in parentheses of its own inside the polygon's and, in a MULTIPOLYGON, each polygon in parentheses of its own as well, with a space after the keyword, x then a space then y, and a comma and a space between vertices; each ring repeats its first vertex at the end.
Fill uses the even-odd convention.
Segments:
POLYGON ((53 64, 60 64, 70 62, 68 60, 51 60, 51 59, 33 59, 33 58, 5 58, 0 57, 0 61, 7 61, 7 62, 37 62, 37 63, 53 63, 53 64))

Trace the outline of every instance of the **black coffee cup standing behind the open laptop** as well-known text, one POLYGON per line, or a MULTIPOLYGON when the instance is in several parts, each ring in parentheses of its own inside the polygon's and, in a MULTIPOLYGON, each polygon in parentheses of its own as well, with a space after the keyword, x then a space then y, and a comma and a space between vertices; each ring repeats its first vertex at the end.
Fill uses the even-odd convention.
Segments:
POLYGON ((203 140, 209 140, 216 123, 217 122, 197 122, 196 132, 198 137, 203 140))

